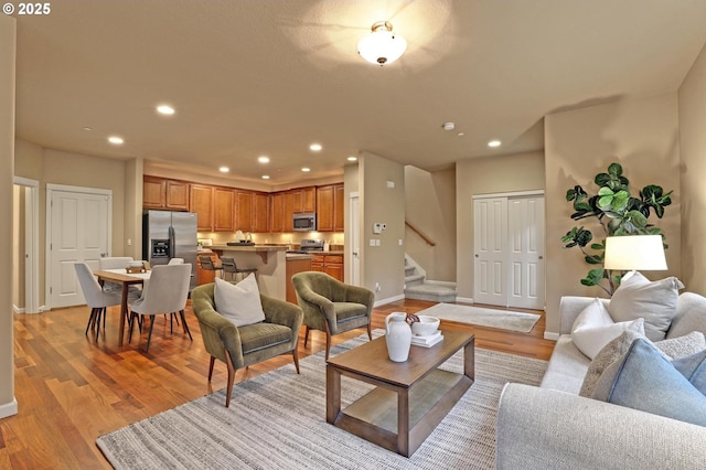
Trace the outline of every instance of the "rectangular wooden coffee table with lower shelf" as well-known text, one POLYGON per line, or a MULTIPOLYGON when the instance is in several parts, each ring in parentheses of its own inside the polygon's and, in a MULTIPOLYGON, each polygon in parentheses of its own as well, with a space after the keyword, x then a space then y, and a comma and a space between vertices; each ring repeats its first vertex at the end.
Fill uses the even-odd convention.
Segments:
POLYGON ((385 337, 327 363, 327 421, 385 449, 411 456, 473 385, 472 334, 442 331, 431 348, 411 346, 406 362, 392 362, 385 337), (438 366, 463 349, 463 374, 438 366), (341 409, 341 375, 376 386, 341 409))

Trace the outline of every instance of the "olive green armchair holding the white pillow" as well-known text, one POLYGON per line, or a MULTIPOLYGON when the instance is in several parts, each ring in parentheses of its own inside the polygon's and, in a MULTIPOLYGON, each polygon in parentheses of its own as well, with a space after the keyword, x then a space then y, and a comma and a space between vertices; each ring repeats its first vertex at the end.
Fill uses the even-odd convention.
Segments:
POLYGON ((196 287, 191 292, 191 306, 199 319, 206 351, 211 354, 208 382, 211 382, 216 359, 225 362, 228 367, 225 397, 227 408, 231 405, 233 383, 238 368, 291 353, 297 374, 299 374, 297 342, 303 313, 293 303, 260 295, 265 321, 236 327, 215 310, 214 287, 214 284, 196 287))

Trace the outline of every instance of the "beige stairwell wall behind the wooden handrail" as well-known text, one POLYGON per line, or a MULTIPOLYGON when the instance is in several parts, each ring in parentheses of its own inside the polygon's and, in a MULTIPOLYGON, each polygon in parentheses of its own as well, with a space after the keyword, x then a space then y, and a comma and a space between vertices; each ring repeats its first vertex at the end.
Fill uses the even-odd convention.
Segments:
POLYGON ((406 227, 406 253, 427 279, 456 281, 456 170, 429 173, 407 165, 405 188, 407 222, 435 243, 406 227))

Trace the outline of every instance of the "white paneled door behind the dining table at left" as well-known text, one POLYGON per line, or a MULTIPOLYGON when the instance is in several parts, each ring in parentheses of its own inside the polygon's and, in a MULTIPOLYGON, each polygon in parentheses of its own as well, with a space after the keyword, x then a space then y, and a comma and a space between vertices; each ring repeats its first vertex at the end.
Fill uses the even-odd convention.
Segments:
POLYGON ((46 298, 51 308, 85 303, 74 263, 98 268, 110 253, 110 191, 47 185, 46 298))

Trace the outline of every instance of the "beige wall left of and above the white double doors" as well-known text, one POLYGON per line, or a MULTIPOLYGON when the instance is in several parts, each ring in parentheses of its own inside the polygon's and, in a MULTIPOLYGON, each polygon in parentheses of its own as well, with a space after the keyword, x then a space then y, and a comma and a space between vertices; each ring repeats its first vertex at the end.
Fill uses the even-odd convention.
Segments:
POLYGON ((473 297, 473 195, 543 188, 543 152, 471 159, 456 163, 456 282, 459 298, 473 297))

